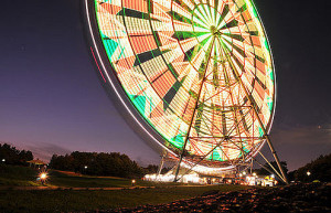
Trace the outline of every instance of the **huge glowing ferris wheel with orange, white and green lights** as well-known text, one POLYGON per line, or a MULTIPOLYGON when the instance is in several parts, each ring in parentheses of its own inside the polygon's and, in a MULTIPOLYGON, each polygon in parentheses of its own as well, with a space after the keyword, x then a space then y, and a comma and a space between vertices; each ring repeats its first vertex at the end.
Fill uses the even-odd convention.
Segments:
POLYGON ((85 7, 104 85, 179 167, 233 170, 265 141, 275 152, 274 64, 250 0, 86 0, 85 7))

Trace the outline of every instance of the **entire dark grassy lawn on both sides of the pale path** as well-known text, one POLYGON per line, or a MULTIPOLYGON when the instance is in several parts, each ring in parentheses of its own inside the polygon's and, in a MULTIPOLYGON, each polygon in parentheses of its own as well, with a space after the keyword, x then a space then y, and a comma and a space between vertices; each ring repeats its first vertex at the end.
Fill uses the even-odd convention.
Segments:
MULTIPOLYGON (((0 187, 41 185, 35 181, 36 175, 38 171, 31 168, 2 164, 0 167, 0 187)), ((190 187, 180 183, 152 183, 137 180, 137 185, 154 188, 115 191, 88 190, 88 188, 127 188, 131 187, 131 180, 78 177, 60 171, 50 171, 47 185, 61 187, 62 190, 0 190, 0 212, 68 212, 130 207, 189 199, 213 190, 247 189, 243 185, 190 187), (71 188, 86 189, 76 191, 71 188)))

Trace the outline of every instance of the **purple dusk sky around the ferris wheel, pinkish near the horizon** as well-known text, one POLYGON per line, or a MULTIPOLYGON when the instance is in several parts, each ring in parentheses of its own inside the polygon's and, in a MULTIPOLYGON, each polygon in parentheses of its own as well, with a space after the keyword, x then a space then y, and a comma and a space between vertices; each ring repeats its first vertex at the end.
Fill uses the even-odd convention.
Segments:
MULTIPOLYGON (((293 170, 331 152, 331 3, 255 3, 276 66, 270 137, 293 170)), ((118 151, 143 166, 159 162, 99 83, 79 0, 3 1, 0 20, 0 141, 41 159, 75 150, 118 151)), ((268 152, 266 146, 263 150, 268 152)))

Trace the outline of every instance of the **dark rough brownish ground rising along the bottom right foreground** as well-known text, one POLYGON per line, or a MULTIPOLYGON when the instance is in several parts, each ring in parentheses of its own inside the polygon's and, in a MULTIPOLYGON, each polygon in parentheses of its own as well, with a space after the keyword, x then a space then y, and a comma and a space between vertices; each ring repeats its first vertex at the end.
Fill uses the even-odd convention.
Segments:
POLYGON ((169 204, 115 209, 106 212, 331 212, 331 185, 291 184, 279 188, 254 188, 236 192, 213 191, 204 196, 169 204))

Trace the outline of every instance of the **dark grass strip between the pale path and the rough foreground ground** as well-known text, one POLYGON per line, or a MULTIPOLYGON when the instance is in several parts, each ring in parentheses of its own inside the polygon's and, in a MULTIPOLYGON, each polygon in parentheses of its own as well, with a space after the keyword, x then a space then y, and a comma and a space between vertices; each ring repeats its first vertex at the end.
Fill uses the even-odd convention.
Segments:
POLYGON ((118 191, 0 191, 0 212, 68 212, 129 207, 189 199, 211 190, 234 191, 242 185, 175 187, 118 191))

